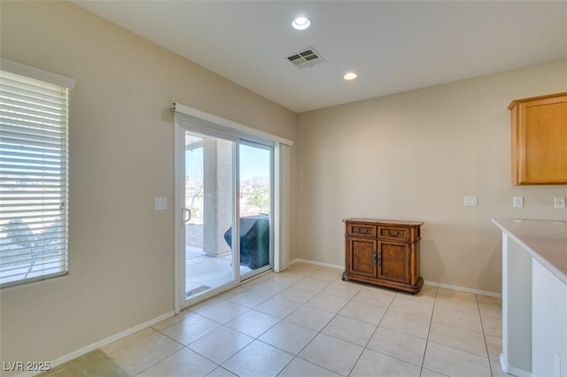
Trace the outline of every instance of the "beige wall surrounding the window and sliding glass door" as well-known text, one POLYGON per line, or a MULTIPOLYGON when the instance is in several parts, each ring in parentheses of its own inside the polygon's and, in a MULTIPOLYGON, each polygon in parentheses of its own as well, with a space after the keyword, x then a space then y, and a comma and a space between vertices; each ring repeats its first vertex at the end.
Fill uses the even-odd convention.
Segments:
MULTIPOLYGON (((1 361, 50 361, 174 309, 172 102, 296 141, 297 116, 71 3, 1 4, 2 57, 76 79, 70 271, 1 292, 1 361), (167 196, 169 210, 153 211, 167 196)), ((291 200, 297 197, 291 149, 291 200)), ((291 208, 291 247, 297 211, 291 208)))

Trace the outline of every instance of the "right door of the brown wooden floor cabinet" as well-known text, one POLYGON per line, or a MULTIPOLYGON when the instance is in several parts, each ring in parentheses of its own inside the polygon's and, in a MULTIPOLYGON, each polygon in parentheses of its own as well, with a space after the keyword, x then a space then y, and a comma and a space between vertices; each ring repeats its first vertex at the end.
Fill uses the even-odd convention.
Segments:
POLYGON ((378 241, 378 278, 408 283, 410 250, 405 242, 378 241))

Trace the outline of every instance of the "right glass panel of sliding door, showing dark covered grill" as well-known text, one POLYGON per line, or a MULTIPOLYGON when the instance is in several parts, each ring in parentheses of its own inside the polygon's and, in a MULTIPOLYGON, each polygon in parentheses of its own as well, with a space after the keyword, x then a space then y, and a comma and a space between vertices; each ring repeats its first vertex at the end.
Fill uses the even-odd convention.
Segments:
POLYGON ((240 275, 272 265, 273 148, 241 141, 238 146, 240 275))

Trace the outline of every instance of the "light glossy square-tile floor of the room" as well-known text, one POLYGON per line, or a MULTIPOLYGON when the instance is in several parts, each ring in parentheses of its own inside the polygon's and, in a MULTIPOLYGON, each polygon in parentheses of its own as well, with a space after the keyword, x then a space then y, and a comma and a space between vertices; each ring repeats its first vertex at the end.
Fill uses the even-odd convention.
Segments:
POLYGON ((507 376, 501 299, 412 296, 296 263, 103 350, 143 376, 507 376))

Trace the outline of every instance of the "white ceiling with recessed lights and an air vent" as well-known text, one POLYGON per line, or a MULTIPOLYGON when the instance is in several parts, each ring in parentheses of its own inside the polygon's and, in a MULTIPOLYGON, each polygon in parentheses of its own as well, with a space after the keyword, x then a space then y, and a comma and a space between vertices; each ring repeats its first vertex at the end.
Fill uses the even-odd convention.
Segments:
POLYGON ((74 3, 294 112, 567 58, 565 1, 74 3), (286 59, 308 47, 325 62, 286 59))

